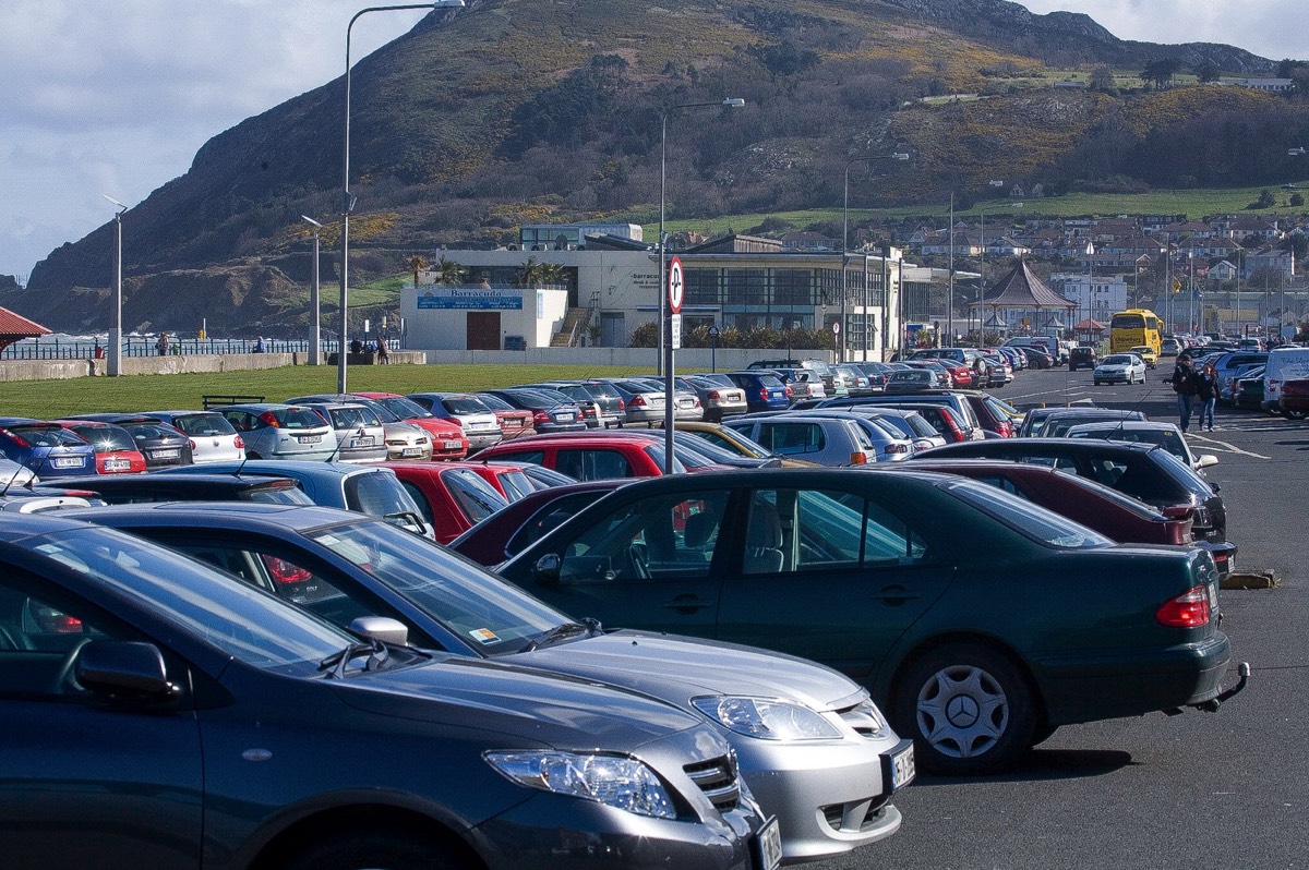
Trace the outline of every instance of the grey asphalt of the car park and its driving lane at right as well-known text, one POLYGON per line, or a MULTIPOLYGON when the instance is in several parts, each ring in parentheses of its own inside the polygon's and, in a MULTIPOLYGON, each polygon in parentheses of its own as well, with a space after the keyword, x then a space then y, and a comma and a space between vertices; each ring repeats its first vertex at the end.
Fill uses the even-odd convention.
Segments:
MULTIPOLYGON (((1092 385, 1089 372, 1022 372, 995 394, 1028 407, 1094 400, 1177 420, 1166 364, 1144 386, 1092 385)), ((897 798, 901 831, 816 869, 1309 866, 1309 424, 1219 408, 1191 432, 1219 457, 1238 570, 1275 570, 1272 589, 1224 590, 1223 629, 1249 687, 1216 713, 1187 710, 1060 729, 1004 776, 920 777, 897 798)), ((1234 682, 1234 667, 1229 678, 1234 682)))

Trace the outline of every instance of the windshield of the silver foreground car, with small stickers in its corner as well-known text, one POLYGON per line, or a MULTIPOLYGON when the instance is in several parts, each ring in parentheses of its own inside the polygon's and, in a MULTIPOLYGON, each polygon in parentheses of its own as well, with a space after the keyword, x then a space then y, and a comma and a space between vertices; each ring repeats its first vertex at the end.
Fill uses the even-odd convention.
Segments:
POLYGON ((462 556, 377 522, 306 534, 488 654, 572 621, 462 556))

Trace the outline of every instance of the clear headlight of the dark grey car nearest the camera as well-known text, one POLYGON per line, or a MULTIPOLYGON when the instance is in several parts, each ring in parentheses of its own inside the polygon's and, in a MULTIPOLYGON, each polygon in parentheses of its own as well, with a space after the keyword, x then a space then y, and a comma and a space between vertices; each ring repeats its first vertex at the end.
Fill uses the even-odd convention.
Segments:
POLYGON ((518 785, 596 801, 636 815, 677 818, 664 784, 636 759, 550 750, 486 752, 483 757, 518 785))

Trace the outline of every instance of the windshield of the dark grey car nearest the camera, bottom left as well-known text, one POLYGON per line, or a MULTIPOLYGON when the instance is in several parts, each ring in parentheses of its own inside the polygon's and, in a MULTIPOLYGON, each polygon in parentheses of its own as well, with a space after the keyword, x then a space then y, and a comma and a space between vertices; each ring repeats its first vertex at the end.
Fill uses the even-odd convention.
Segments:
POLYGON ((45 536, 35 551, 254 667, 310 663, 312 671, 357 641, 249 583, 134 535, 77 529, 45 536))

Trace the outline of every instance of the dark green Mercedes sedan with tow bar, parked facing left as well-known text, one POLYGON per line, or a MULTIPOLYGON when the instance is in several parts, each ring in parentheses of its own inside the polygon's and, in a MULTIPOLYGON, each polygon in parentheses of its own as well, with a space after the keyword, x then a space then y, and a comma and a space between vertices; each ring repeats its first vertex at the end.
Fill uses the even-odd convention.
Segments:
POLYGON ((611 624, 831 663, 942 773, 1003 769, 1064 725, 1230 696, 1207 552, 1114 544, 953 475, 771 468, 634 481, 499 573, 611 624))

